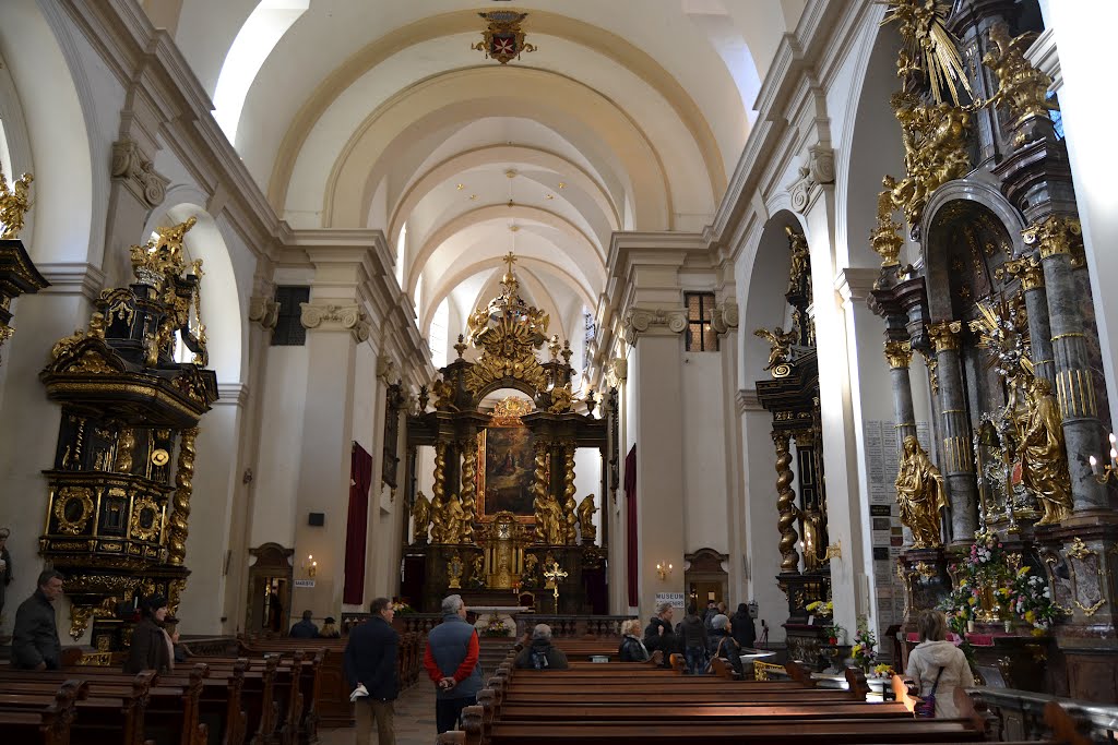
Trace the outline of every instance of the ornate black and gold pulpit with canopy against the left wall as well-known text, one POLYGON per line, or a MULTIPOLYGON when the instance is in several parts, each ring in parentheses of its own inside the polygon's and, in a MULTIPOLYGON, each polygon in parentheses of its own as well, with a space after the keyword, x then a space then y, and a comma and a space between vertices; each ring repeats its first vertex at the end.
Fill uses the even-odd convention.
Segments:
POLYGON ((191 218, 132 247, 135 281, 106 289, 88 327, 60 340, 39 378, 61 404, 40 553, 66 575, 77 640, 97 619, 100 650, 127 643, 129 609, 152 593, 177 610, 198 422, 217 399, 206 369, 201 262, 191 218))

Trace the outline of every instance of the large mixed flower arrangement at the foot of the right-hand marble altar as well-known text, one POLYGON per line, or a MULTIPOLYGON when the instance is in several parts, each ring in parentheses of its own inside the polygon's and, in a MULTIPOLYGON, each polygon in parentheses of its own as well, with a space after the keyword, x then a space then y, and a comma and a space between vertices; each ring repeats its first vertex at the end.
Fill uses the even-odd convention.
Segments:
POLYGON ((969 621, 993 621, 1001 615, 1027 623, 1041 636, 1065 614, 1052 602, 1052 592, 1042 576, 1032 574, 1018 554, 1010 554, 993 531, 975 533, 969 561, 949 567, 956 586, 940 602, 951 631, 960 637, 969 621))

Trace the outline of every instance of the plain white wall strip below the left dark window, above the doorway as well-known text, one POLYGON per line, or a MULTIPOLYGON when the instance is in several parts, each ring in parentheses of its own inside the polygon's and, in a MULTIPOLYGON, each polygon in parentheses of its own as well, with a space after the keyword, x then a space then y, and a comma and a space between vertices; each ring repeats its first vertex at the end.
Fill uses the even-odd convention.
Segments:
POLYGON ((268 347, 252 546, 275 542, 292 547, 295 541, 306 365, 305 346, 268 347))

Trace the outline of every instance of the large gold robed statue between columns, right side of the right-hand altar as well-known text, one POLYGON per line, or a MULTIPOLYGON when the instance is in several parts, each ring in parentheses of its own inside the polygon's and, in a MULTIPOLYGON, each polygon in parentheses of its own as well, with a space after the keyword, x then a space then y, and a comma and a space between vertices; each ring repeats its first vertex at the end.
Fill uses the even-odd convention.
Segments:
POLYGON ((1071 477, 1063 442, 1060 407, 1052 384, 1043 378, 1029 386, 1029 418, 1017 447, 1021 480, 1044 508, 1038 525, 1059 523, 1071 514, 1071 477))

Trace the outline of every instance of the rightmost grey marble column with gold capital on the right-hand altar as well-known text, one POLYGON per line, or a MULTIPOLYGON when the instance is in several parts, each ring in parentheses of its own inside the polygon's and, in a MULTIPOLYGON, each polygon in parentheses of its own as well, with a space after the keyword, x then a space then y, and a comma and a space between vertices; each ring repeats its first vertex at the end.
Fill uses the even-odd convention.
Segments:
POLYGON ((1063 417, 1063 438, 1068 447, 1073 512, 1106 510, 1106 489, 1095 480, 1088 457, 1106 462, 1102 452, 1102 423, 1098 417, 1095 384, 1088 366, 1086 324, 1076 296, 1072 276, 1072 250, 1082 246, 1079 220, 1051 216, 1022 231, 1026 246, 1040 249, 1048 290, 1049 323, 1052 332, 1053 385, 1063 417))

